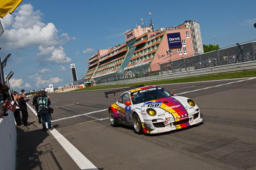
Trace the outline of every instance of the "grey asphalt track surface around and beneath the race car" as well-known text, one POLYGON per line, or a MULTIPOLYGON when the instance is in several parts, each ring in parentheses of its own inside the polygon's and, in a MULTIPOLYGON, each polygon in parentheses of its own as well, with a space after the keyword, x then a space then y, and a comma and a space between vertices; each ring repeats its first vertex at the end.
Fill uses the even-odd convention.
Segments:
POLYGON ((161 86, 194 99, 204 124, 157 135, 111 127, 108 90, 50 94, 52 124, 99 169, 256 169, 256 78, 161 86))

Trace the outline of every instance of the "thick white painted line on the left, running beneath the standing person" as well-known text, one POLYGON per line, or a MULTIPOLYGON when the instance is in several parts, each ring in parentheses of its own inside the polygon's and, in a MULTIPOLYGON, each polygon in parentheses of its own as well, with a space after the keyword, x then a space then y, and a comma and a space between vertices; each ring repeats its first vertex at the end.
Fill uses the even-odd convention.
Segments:
MULTIPOLYGON (((29 109, 36 115, 36 111, 27 104, 29 109)), ((60 132, 58 132, 56 129, 53 129, 50 131, 52 136, 60 143, 60 145, 63 147, 63 149, 68 153, 68 155, 76 162, 77 166, 80 169, 97 169, 93 163, 88 160, 83 153, 81 153, 77 148, 70 143, 60 132)))

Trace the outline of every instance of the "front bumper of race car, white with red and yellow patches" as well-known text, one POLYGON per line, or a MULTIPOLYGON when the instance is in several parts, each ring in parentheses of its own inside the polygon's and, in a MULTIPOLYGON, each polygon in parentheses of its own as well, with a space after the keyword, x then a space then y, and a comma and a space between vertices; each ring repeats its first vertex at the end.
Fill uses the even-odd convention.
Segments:
POLYGON ((200 117, 200 112, 198 115, 191 115, 185 120, 179 122, 173 122, 173 119, 166 118, 166 121, 154 123, 148 121, 143 123, 143 132, 146 134, 158 134, 163 132, 175 131, 177 129, 182 129, 184 127, 189 127, 191 125, 200 124, 204 120, 200 117))

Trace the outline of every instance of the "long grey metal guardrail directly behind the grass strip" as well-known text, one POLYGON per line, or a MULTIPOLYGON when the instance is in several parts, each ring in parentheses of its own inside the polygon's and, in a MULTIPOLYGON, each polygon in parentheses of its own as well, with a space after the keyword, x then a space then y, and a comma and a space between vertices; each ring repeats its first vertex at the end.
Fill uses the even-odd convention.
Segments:
POLYGON ((126 84, 126 83, 140 83, 145 81, 155 81, 155 80, 167 80, 174 78, 186 78, 190 76, 201 76, 206 74, 217 74, 217 73, 228 73, 232 71, 243 71, 247 69, 256 69, 256 60, 248 61, 248 62, 239 62, 237 64, 227 64, 223 66, 216 67, 207 67, 204 69, 194 69, 190 71, 182 71, 177 73, 166 73, 157 76, 148 76, 143 78, 133 78, 128 80, 120 80, 120 81, 111 81, 107 83, 100 83, 98 85, 118 85, 118 84, 126 84))

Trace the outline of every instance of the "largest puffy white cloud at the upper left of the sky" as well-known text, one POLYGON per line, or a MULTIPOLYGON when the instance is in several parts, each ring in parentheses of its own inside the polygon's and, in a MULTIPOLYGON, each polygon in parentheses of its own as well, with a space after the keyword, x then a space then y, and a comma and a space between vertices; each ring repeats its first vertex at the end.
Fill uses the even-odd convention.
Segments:
POLYGON ((69 38, 59 36, 53 23, 41 22, 42 13, 33 10, 31 4, 23 4, 15 15, 6 15, 1 20, 4 34, 0 39, 1 46, 7 49, 24 48, 31 45, 61 45, 69 38), (15 16, 15 17, 13 17, 15 16))

